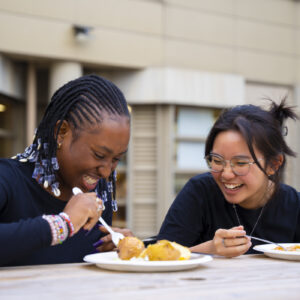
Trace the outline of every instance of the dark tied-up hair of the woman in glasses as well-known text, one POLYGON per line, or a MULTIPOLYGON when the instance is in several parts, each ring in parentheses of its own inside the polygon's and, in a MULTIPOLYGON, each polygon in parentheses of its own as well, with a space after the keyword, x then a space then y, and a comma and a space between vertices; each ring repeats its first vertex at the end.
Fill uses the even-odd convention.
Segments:
POLYGON ((295 152, 286 144, 284 135, 287 127, 284 121, 288 118, 298 119, 293 112, 293 107, 286 105, 286 97, 280 104, 271 101, 269 110, 264 110, 255 105, 239 105, 226 109, 219 116, 208 134, 205 144, 205 155, 208 155, 213 147, 216 136, 223 131, 235 130, 242 134, 248 145, 249 151, 257 166, 268 176, 266 167, 276 160, 279 154, 283 155, 283 164, 269 178, 278 188, 282 171, 285 165, 285 156, 296 156, 295 152), (263 154, 265 158, 265 169, 261 166, 255 156, 253 146, 263 154))

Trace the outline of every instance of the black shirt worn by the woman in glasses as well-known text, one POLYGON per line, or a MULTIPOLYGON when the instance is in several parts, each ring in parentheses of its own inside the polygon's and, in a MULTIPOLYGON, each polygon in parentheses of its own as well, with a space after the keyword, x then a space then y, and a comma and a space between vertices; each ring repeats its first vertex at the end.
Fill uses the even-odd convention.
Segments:
MULTIPOLYGON (((236 205, 247 234, 261 212, 236 205)), ((212 240, 217 229, 229 229, 239 222, 233 205, 224 198, 210 173, 191 178, 171 205, 157 239, 176 241, 191 247, 212 240)), ((300 193, 280 184, 276 195, 265 206, 253 236, 281 243, 300 242, 300 193)), ((252 240, 252 246, 262 244, 252 240)), ((255 253, 251 248, 247 252, 255 253)))

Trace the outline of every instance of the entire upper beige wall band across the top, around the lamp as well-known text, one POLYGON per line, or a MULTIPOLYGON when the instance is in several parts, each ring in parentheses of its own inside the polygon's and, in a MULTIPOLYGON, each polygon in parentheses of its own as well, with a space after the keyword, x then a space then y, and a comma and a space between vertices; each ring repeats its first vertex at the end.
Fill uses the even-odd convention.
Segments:
POLYGON ((300 5, 292 0, 1 0, 0 51, 97 66, 172 66, 293 85, 300 5), (74 38, 75 24, 91 27, 74 38))

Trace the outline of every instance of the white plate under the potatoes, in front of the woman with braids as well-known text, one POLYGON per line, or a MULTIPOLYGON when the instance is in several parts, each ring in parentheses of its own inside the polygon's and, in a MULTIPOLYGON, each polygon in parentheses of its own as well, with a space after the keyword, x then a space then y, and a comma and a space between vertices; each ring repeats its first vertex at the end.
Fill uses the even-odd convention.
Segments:
POLYGON ((210 255, 192 253, 189 260, 173 261, 144 261, 144 260, 121 260, 117 252, 104 252, 86 255, 83 259, 94 263, 99 268, 114 271, 130 272, 162 272, 180 271, 196 268, 199 265, 212 260, 210 255))

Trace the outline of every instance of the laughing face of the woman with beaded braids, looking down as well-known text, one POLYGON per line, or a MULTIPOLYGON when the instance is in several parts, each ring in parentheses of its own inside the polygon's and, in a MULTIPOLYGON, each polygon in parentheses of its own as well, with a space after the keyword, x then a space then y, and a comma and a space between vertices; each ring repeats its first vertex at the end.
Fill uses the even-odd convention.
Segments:
POLYGON ((108 178, 127 151, 130 123, 126 116, 104 115, 100 124, 83 128, 74 134, 64 121, 58 135, 58 180, 63 200, 70 198, 75 186, 84 192, 95 189, 99 179, 108 178))

